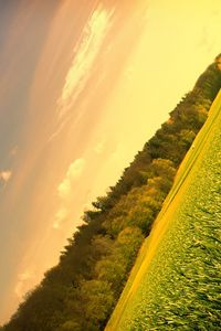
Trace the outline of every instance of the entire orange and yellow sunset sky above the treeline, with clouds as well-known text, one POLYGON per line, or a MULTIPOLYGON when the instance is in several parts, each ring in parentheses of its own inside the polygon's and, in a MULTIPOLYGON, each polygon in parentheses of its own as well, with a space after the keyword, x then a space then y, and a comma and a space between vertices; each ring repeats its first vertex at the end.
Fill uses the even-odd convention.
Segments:
POLYGON ((221 52, 220 0, 0 0, 0 323, 221 52))

